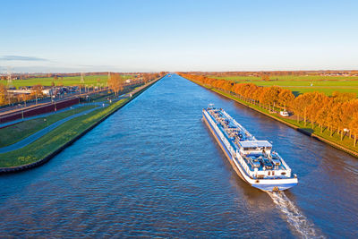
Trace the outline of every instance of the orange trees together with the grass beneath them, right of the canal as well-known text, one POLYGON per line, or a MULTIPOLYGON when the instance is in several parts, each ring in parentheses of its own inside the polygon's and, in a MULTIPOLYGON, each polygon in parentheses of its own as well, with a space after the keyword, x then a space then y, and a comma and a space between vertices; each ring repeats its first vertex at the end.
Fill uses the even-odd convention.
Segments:
POLYGON ((295 97, 291 90, 279 86, 261 87, 253 83, 235 83, 203 75, 181 75, 305 132, 358 152, 358 99, 355 93, 335 91, 332 96, 327 96, 315 91, 295 97), (290 117, 278 114, 285 110, 291 112, 290 117))

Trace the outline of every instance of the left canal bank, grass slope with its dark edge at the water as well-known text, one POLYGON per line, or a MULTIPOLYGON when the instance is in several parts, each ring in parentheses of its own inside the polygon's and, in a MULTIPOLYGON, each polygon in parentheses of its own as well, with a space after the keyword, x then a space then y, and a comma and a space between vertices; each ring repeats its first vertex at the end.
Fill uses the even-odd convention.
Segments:
POLYGON ((0 167, 0 174, 20 172, 45 164, 51 158, 54 158, 55 155, 70 146, 74 141, 79 140, 87 132, 90 132, 90 130, 95 128, 98 124, 106 120, 107 117, 113 115, 117 110, 131 102, 132 99, 141 95, 142 92, 158 82, 161 78, 150 81, 128 92, 124 95, 124 98, 116 101, 109 107, 94 110, 90 114, 81 115, 64 123, 26 147, 1 154, 0 161, 2 161, 1 164, 3 166, 0 167), (44 145, 45 147, 43 147, 44 145), (33 152, 33 154, 31 154, 31 152, 33 152), (4 166, 6 159, 8 166, 4 166), (21 164, 21 162, 23 163, 21 164))

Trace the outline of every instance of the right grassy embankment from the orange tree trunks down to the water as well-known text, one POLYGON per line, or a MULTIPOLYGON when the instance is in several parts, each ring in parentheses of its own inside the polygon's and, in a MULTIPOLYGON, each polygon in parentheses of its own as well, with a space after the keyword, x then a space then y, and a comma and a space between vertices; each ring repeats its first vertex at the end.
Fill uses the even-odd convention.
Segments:
MULTIPOLYGON (((189 80, 192 81, 192 80, 189 80)), ((209 90, 215 91, 220 95, 225 96, 226 98, 232 98, 235 101, 247 106, 247 107, 251 107, 252 109, 259 111, 260 113, 264 114, 264 115, 268 115, 271 118, 276 119, 277 121, 284 123, 290 127, 293 127, 294 129, 299 130, 300 132, 304 132, 305 134, 309 134, 311 136, 313 136, 314 138, 320 140, 320 141, 325 141, 328 144, 332 145, 333 147, 337 148, 337 149, 341 149, 344 150, 345 152, 350 153, 351 155, 353 155, 354 157, 358 157, 358 147, 354 147, 354 140, 350 139, 349 137, 345 136, 343 141, 340 140, 340 135, 338 135, 337 133, 334 133, 333 136, 331 137, 329 134, 329 131, 326 129, 323 132, 320 132, 320 127, 318 126, 314 126, 313 129, 311 128, 311 124, 307 124, 306 126, 304 126, 303 121, 300 121, 299 123, 297 123, 297 121, 295 119, 288 119, 285 117, 281 117, 280 115, 277 114, 272 114, 269 113, 269 111, 265 108, 259 107, 257 105, 248 103, 246 101, 243 101, 240 98, 237 98, 231 94, 228 94, 222 90, 217 90, 215 88, 212 88, 211 86, 208 85, 204 85, 199 81, 193 81, 194 83, 199 84, 202 87, 205 87, 209 90)))

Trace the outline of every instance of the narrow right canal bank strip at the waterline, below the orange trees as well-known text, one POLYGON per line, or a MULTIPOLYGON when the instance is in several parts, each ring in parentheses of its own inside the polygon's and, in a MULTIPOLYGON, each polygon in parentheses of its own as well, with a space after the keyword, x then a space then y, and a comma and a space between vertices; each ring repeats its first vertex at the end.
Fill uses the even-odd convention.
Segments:
MULTIPOLYGON (((182 76, 182 77, 183 77, 183 76, 182 76)), ((183 78, 184 78, 184 77, 183 77, 183 78)), ((263 114, 263 115, 267 115, 268 117, 270 117, 270 118, 272 118, 272 119, 275 119, 275 120, 277 120, 278 122, 280 122, 280 123, 282 123, 282 124, 286 124, 287 126, 289 126, 289 127, 291 127, 291 128, 294 128, 296 131, 302 132, 303 134, 305 134, 305 135, 307 135, 307 136, 309 136, 309 137, 311 137, 311 138, 313 138, 313 139, 315 139, 315 140, 317 140, 317 141, 325 142, 325 143, 327 143, 328 145, 330 145, 330 146, 332 146, 332 147, 334 147, 334 148, 336 148, 336 149, 342 150, 342 151, 344 151, 344 152, 346 152, 346 153, 348 153, 348 154, 354 156, 355 158, 358 158, 358 152, 357 152, 357 151, 354 151, 354 150, 352 150, 352 149, 348 149, 348 148, 346 148, 345 146, 340 145, 340 144, 337 144, 337 143, 334 142, 334 141, 330 141, 330 140, 327 139, 327 138, 321 137, 320 135, 318 135, 318 134, 316 134, 316 133, 314 133, 314 132, 310 132, 309 129, 304 129, 304 128, 301 128, 301 127, 299 127, 299 126, 297 126, 297 125, 291 124, 291 123, 285 121, 284 119, 279 118, 277 115, 272 115, 272 114, 269 114, 268 112, 264 112, 261 108, 257 107, 256 105, 253 105, 253 104, 251 104, 251 103, 245 102, 245 101, 243 101, 243 100, 240 99, 240 98, 236 98, 236 97, 234 97, 234 96, 231 95, 231 94, 228 94, 228 93, 226 93, 226 92, 223 92, 222 90, 217 90, 217 89, 214 89, 214 88, 212 88, 212 87, 209 87, 209 86, 207 86, 207 85, 201 83, 200 81, 194 81, 194 80, 187 79, 187 78, 184 78, 184 79, 186 79, 186 80, 188 80, 188 81, 192 81, 192 82, 194 82, 194 83, 200 85, 201 87, 204 87, 204 88, 206 88, 206 89, 208 89, 208 90, 214 91, 214 92, 216 92, 217 94, 220 94, 220 95, 222 95, 222 96, 224 96, 224 97, 226 97, 226 98, 231 98, 231 99, 233 99, 234 101, 236 101, 236 102, 242 104, 242 105, 245 106, 245 107, 249 107, 249 108, 251 108, 252 110, 255 110, 255 111, 257 111, 257 112, 260 112, 260 113, 263 114)))

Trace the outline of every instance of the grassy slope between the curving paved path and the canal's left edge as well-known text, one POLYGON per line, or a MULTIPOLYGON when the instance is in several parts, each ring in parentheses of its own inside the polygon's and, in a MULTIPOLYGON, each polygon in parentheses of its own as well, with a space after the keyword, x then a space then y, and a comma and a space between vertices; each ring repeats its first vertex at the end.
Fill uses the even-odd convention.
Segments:
MULTIPOLYGON (((146 88, 143 90, 145 89, 146 88)), ((143 90, 135 93, 132 98, 141 94, 143 90)), ((61 124, 55 128, 55 130, 47 133, 45 136, 38 139, 38 141, 34 141, 21 149, 0 154, 0 167, 22 166, 47 158, 58 149, 67 145, 68 142, 76 140, 84 132, 90 130, 108 115, 111 115, 120 107, 123 107, 132 98, 123 98, 109 107, 100 107, 97 110, 90 112, 90 114, 73 118, 64 124, 61 124)))

